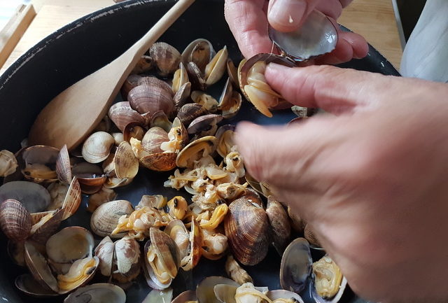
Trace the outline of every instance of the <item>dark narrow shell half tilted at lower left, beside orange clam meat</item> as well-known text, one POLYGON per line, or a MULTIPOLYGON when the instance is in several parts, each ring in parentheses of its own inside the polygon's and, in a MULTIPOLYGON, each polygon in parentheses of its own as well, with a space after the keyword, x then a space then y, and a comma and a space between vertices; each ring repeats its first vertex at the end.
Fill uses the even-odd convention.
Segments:
POLYGON ((50 288, 56 293, 59 291, 57 280, 48 267, 47 261, 30 241, 25 242, 25 262, 34 279, 41 286, 50 288))

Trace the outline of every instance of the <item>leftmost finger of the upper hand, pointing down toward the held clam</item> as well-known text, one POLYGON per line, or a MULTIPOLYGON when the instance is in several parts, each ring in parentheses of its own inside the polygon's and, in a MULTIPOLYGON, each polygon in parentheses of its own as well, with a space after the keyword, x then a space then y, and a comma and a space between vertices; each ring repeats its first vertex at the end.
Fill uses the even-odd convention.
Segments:
POLYGON ((265 0, 225 0, 225 20, 246 58, 272 50, 264 4, 265 0))

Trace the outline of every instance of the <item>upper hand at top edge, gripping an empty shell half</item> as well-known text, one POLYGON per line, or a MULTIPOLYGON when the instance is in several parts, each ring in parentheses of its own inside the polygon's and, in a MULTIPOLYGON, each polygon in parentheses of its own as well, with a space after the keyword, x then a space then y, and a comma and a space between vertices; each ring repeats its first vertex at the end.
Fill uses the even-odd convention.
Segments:
MULTIPOLYGON (((272 41, 267 34, 267 23, 279 31, 293 31, 300 27, 307 15, 316 8, 336 24, 342 8, 351 0, 225 0, 225 20, 235 36, 244 57, 260 52, 272 52, 272 41), (291 21, 291 22, 290 22, 291 21)), ((318 64, 337 64, 367 55, 365 39, 355 33, 339 31, 335 50, 319 57, 318 64)))

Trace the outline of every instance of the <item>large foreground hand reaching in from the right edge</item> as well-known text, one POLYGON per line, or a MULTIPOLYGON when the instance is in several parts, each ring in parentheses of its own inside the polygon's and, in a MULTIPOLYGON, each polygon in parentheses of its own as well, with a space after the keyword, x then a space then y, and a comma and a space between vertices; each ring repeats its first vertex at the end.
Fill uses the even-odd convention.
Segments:
POLYGON ((246 169, 307 220, 360 296, 447 302, 448 84, 332 66, 265 76, 333 115, 240 124, 246 169))

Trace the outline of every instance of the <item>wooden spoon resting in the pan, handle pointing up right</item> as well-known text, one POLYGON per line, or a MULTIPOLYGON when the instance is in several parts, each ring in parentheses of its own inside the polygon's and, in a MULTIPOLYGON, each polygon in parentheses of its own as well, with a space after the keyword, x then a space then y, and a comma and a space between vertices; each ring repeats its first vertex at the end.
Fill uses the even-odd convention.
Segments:
POLYGON ((106 115, 111 102, 139 58, 195 0, 179 0, 130 49, 113 62, 58 94, 38 114, 29 132, 29 144, 69 150, 78 146, 106 115), (100 87, 100 89, 98 88, 100 87))

